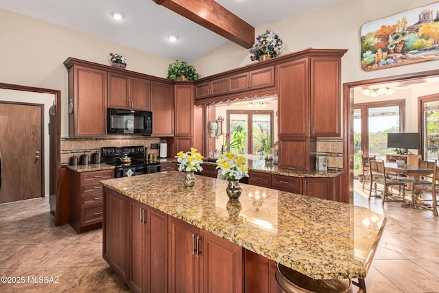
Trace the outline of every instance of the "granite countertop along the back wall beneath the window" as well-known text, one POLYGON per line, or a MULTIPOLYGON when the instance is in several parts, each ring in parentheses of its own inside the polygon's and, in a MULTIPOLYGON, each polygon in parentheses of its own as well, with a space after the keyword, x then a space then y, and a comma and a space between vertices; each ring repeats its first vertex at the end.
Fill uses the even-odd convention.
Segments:
MULTIPOLYGON (((211 160, 211 159, 209 159, 211 160)), ((167 158, 158 160, 159 163, 177 163, 176 158, 167 158)), ((217 165, 214 161, 204 161, 203 165, 217 165)), ((248 160, 248 169, 254 172, 263 172, 270 174, 278 174, 283 176, 292 177, 337 177, 342 174, 342 171, 328 170, 328 171, 318 171, 318 170, 297 170, 281 168, 278 165, 273 164, 271 166, 265 165, 264 160, 248 160)))

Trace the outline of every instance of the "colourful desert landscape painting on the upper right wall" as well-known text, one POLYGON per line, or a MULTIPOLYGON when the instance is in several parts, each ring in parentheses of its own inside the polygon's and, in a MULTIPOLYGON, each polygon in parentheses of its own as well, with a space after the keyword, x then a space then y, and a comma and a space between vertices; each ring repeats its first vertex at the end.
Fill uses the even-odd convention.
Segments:
POLYGON ((439 2, 361 26, 361 69, 439 60, 439 2))

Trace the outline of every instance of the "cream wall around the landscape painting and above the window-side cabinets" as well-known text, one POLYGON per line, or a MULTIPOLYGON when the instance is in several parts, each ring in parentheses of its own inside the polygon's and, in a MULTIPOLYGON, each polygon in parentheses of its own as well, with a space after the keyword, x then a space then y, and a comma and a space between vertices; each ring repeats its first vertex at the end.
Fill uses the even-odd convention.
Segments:
MULTIPOLYGON (((274 30, 287 46, 284 54, 309 47, 348 49, 342 58, 342 84, 383 76, 434 70, 438 69, 439 61, 422 62, 377 71, 363 71, 360 67, 359 40, 360 28, 364 23, 432 2, 434 1, 346 0, 327 8, 261 25, 256 28, 256 34, 262 34, 267 29, 274 30)), ((233 43, 226 43, 219 49, 196 60, 193 65, 202 76, 208 76, 248 65, 251 62, 247 49, 233 43)))

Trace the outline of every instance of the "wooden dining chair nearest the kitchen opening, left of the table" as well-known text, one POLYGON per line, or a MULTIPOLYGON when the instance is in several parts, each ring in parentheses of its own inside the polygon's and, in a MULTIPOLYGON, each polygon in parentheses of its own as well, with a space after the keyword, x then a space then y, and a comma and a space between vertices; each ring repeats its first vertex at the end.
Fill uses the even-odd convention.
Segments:
POLYGON ((377 184, 382 185, 383 196, 381 204, 384 205, 384 202, 394 202, 394 201, 402 201, 405 202, 405 183, 400 180, 396 180, 393 178, 389 178, 387 174, 385 174, 385 166, 383 161, 369 161, 370 166, 370 189, 369 189, 369 200, 372 196, 372 189, 375 189, 375 194, 377 194, 377 184), (394 186, 399 187, 399 196, 394 196, 392 192, 389 191, 389 188, 394 186))

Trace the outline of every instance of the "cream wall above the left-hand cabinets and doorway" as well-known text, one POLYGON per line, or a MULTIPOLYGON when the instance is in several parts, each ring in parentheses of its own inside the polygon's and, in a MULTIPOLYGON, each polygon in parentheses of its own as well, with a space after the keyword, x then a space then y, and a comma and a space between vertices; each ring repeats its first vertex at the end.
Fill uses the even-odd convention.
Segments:
POLYGON ((109 54, 125 55, 128 70, 166 78, 173 60, 146 54, 65 27, 0 9, 0 82, 61 91, 61 135, 69 135, 69 57, 110 65, 109 54))

